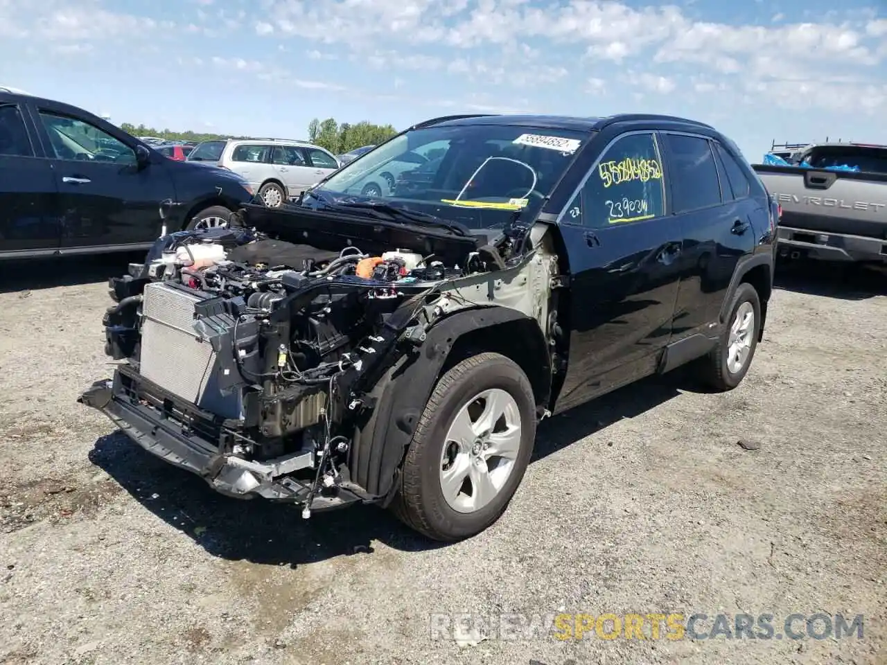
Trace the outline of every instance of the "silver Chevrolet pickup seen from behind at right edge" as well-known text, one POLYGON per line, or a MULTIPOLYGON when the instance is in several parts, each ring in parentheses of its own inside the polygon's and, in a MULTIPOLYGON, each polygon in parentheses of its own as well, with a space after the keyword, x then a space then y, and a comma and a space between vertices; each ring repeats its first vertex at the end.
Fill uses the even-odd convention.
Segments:
POLYGON ((781 256, 887 265, 887 145, 812 144, 753 168, 782 209, 781 256))

